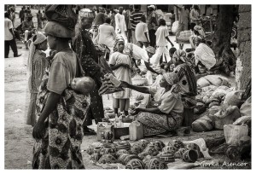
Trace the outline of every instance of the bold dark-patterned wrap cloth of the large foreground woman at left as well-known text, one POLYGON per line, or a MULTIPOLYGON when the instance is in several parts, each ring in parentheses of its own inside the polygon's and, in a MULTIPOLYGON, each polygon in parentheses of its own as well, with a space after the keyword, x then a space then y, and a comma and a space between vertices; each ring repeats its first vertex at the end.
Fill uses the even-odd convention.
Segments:
MULTIPOLYGON (((43 111, 49 90, 49 73, 44 75, 37 97, 37 113, 43 111)), ((33 147, 33 169, 84 169, 80 145, 83 122, 90 105, 90 97, 67 88, 49 118, 45 120, 45 134, 33 147)))

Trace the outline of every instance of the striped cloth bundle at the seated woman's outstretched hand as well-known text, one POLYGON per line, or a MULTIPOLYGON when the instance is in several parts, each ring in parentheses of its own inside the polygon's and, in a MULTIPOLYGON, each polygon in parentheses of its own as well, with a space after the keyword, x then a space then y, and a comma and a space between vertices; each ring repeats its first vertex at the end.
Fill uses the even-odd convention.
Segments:
POLYGON ((117 78, 115 78, 111 73, 106 74, 102 81, 103 83, 99 90, 99 95, 101 96, 104 94, 112 94, 114 92, 124 90, 122 87, 119 87, 121 82, 117 78))

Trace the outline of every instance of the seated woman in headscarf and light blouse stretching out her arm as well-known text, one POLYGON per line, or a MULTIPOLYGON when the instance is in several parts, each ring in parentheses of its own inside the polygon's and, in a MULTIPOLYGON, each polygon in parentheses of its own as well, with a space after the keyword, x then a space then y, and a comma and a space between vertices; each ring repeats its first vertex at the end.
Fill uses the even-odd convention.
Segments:
POLYGON ((132 113, 137 115, 137 121, 143 124, 144 136, 174 131, 182 124, 183 103, 177 82, 176 73, 164 73, 160 87, 139 87, 122 82, 122 87, 151 94, 154 98, 154 105, 151 102, 149 108, 137 107, 132 113), (154 107, 150 108, 150 105, 154 107))

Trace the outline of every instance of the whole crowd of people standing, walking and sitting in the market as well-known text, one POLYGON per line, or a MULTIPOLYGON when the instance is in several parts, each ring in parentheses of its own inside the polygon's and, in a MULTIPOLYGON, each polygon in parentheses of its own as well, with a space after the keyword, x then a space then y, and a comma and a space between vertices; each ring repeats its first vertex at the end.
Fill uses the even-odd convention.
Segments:
MULTIPOLYGON (((216 63, 211 48, 201 38, 201 28, 193 20, 194 32, 198 36, 191 38, 195 54, 188 57, 185 51, 174 48, 166 20, 158 19, 154 5, 148 6, 148 23, 147 16, 140 10, 141 6, 134 5, 134 9, 132 7, 130 5, 125 13, 119 7, 118 10, 113 10, 114 16, 108 15, 109 11, 105 13, 102 8, 98 8, 93 20, 93 24, 99 26, 95 38, 90 37, 88 29, 91 24, 87 18, 82 18, 77 23, 77 15, 74 13, 73 16, 65 16, 70 21, 68 24, 55 20, 45 22, 44 26, 46 13, 41 14, 38 10, 38 28, 44 28, 44 32, 36 32, 32 36, 27 61, 31 101, 26 123, 33 126, 32 136, 37 141, 33 148, 33 168, 84 168, 80 154, 83 136, 96 135, 88 126, 92 125, 93 119, 97 124, 104 118, 99 89, 108 70, 102 67, 100 59, 103 56, 108 61, 108 48, 108 66, 115 78, 121 81, 120 86, 125 89, 113 95, 114 113, 130 114, 131 90, 153 96, 154 106, 137 107, 131 111, 143 124, 144 136, 176 130, 183 125, 183 112, 193 113, 190 104, 197 93, 195 67, 211 70, 216 63), (166 41, 172 45, 169 50, 166 41), (47 44, 51 49, 48 57, 43 52, 47 49, 47 44), (166 61, 163 62, 161 57, 166 57, 166 61), (141 71, 138 67, 141 60, 148 71, 158 75, 156 85, 132 85, 131 74, 141 71), (162 68, 158 71, 154 66, 162 68), (81 76, 93 79, 94 85, 92 82, 88 83, 88 79, 73 81, 81 76), (86 94, 71 86, 73 82, 79 88, 78 86, 84 85, 79 84, 81 81, 86 84, 84 88, 91 88, 86 94)), ((34 28, 29 10, 20 10, 26 41, 28 33, 34 28)), ((185 8, 180 10, 187 14, 185 8)), ((195 7, 195 15, 196 10, 195 7)), ((179 22, 182 24, 180 28, 187 28, 183 19, 179 22)), ((20 56, 13 44, 15 37, 9 12, 5 13, 5 23, 10 32, 9 36, 5 36, 5 56, 9 55, 9 45, 15 56, 20 56)))

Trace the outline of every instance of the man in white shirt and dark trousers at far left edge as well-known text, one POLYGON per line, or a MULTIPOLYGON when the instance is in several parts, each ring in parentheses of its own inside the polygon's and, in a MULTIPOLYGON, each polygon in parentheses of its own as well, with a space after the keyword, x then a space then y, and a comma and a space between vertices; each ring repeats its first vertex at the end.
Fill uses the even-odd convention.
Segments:
POLYGON ((9 47, 14 52, 15 57, 19 57, 18 55, 18 49, 15 41, 15 33, 13 30, 13 22, 12 20, 9 20, 9 13, 4 13, 4 57, 9 57, 9 47))

